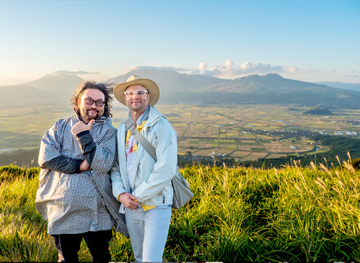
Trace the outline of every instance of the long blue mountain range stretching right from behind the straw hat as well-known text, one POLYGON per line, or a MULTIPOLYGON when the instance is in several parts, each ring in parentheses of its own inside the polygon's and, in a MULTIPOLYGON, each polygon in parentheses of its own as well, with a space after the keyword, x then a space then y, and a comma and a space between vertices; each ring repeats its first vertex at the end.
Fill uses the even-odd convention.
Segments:
POLYGON ((360 92, 290 80, 275 73, 222 80, 176 71, 147 70, 131 71, 109 81, 125 82, 133 74, 150 78, 159 84, 159 102, 231 102, 360 108, 360 92))

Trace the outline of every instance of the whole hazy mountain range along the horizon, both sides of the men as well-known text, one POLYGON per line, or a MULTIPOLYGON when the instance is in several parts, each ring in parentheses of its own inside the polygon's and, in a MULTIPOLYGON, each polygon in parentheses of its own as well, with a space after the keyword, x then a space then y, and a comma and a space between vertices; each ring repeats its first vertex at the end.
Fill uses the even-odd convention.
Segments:
MULTIPOLYGON (((328 87, 325 84, 282 78, 278 74, 248 75, 235 80, 223 80, 204 75, 188 75, 170 70, 138 70, 118 75, 107 82, 125 82, 130 75, 154 80, 161 90, 159 102, 241 103, 293 105, 293 107, 360 108, 360 91, 328 87)), ((82 79, 76 75, 46 75, 39 80, 0 87, 6 103, 68 102, 75 86, 82 79), (16 100, 14 100, 16 98, 16 100)))

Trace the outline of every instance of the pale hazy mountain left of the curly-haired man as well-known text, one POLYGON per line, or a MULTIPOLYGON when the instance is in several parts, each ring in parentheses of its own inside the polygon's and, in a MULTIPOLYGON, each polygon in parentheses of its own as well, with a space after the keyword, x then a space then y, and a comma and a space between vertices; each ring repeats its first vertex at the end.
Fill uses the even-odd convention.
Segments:
POLYGON ((46 105, 61 100, 69 101, 75 87, 82 82, 77 75, 45 75, 32 82, 0 86, 0 94, 6 98, 3 106, 46 105))

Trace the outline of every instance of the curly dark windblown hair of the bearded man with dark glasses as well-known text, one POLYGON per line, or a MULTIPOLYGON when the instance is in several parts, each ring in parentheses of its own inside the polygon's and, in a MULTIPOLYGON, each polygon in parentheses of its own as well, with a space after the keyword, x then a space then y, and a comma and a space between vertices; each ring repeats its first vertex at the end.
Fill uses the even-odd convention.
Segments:
POLYGON ((71 104, 75 107, 75 109, 79 110, 78 107, 78 99, 82 96, 82 93, 86 89, 98 89, 99 91, 102 91, 105 95, 105 105, 104 105, 104 117, 112 117, 112 114, 110 113, 110 109, 112 107, 111 102, 114 100, 114 98, 111 96, 113 89, 114 89, 114 83, 100 83, 95 81, 84 81, 78 84, 76 87, 73 97, 71 97, 71 104))

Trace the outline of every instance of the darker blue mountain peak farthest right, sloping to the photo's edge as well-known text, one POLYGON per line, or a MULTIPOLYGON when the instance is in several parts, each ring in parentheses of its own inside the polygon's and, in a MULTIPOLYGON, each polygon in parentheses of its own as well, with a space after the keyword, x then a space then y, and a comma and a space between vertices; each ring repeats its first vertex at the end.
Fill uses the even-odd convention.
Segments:
POLYGON ((249 75, 225 84, 208 87, 208 91, 233 93, 233 100, 259 104, 297 104, 304 106, 360 107, 360 92, 327 87, 324 84, 290 80, 274 73, 249 75), (240 96, 239 93, 242 95, 240 96))

